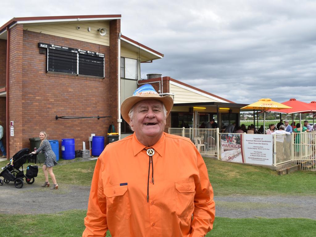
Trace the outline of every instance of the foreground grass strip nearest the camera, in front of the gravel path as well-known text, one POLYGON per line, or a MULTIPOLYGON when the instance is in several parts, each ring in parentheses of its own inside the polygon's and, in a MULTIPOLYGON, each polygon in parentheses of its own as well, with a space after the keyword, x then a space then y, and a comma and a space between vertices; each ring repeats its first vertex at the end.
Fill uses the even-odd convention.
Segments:
MULTIPOLYGON (((84 230, 86 211, 71 210, 57 214, 3 215, 0 233, 2 237, 77 237, 84 230)), ((214 237, 312 237, 316 221, 311 219, 232 219, 216 217, 213 230, 206 236, 214 237)), ((107 236, 111 236, 108 232, 107 236)))

